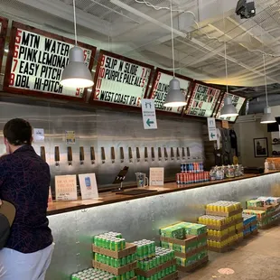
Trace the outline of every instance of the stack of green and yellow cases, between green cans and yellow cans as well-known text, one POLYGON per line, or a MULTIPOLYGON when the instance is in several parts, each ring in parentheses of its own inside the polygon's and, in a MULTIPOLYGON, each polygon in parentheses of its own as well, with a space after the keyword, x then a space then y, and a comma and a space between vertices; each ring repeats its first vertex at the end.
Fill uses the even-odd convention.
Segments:
POLYGON ((162 247, 175 251, 178 270, 191 270, 208 262, 207 228, 181 222, 160 229, 162 247))

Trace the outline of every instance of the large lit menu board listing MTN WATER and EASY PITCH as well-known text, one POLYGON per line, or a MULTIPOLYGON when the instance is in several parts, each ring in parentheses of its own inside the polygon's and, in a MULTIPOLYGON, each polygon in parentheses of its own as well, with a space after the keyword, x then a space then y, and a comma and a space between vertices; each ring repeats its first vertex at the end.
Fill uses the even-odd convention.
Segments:
MULTIPOLYGON (((96 48, 78 43, 92 69, 96 48)), ((83 99, 84 89, 61 86, 61 75, 69 62, 74 42, 22 23, 13 23, 4 89, 12 93, 45 98, 83 99)))

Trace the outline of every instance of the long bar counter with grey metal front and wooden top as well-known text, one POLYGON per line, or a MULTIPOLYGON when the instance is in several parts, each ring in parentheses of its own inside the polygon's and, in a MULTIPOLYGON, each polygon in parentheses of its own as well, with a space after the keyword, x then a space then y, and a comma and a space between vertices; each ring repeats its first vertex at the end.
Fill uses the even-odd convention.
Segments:
POLYGON ((249 199, 280 196, 280 172, 182 187, 166 183, 153 189, 157 192, 142 196, 105 192, 97 201, 51 203, 49 220, 56 246, 46 280, 68 280, 89 268, 92 237, 100 233, 117 231, 127 242, 147 239, 159 244, 159 229, 179 221, 197 222, 210 202, 240 201, 245 208, 249 199))

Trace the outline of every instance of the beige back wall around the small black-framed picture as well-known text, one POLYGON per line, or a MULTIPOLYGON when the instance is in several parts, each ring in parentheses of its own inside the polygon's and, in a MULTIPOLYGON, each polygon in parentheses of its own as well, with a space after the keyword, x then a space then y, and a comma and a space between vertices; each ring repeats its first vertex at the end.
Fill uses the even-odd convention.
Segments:
MULTIPOLYGON (((251 117, 247 116, 247 118, 249 119, 251 117)), ((264 163, 266 160, 265 157, 255 157, 253 141, 254 138, 267 137, 269 153, 268 156, 271 156, 272 153, 271 134, 267 133, 267 126, 261 125, 259 122, 260 119, 257 119, 256 121, 246 121, 246 117, 242 117, 242 122, 237 122, 234 125, 235 132, 238 135, 239 163, 242 163, 247 167, 264 167, 264 163)))

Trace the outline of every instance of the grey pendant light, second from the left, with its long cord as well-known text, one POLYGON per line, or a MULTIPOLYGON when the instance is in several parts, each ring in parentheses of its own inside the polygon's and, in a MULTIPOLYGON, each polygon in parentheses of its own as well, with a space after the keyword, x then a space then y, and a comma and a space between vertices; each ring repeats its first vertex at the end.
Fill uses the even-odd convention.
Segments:
POLYGON ((182 94, 180 81, 175 78, 175 58, 174 58, 174 37, 173 37, 173 1, 170 1, 170 19, 171 19, 171 41, 173 49, 173 79, 169 82, 169 90, 165 98, 164 107, 182 107, 187 105, 186 98, 182 94))

